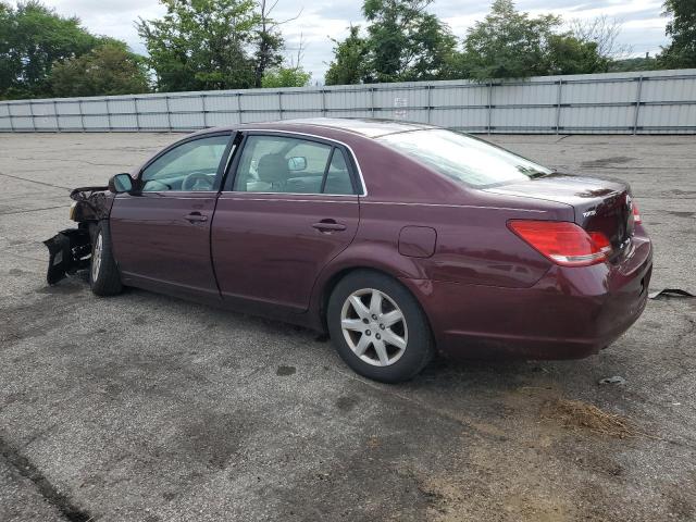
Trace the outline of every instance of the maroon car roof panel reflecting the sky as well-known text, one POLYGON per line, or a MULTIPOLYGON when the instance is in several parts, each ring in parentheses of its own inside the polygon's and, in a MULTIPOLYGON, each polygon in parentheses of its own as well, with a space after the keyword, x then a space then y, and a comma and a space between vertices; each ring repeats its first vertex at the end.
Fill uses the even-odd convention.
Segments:
POLYGON ((366 138, 378 138, 389 134, 406 133, 411 130, 424 130, 428 128, 439 128, 414 122, 399 122, 394 120, 358 119, 358 117, 307 117, 298 120, 279 120, 275 122, 245 123, 239 126, 223 128, 207 128, 202 133, 215 130, 289 130, 289 132, 311 132, 322 134, 321 130, 343 130, 366 138))

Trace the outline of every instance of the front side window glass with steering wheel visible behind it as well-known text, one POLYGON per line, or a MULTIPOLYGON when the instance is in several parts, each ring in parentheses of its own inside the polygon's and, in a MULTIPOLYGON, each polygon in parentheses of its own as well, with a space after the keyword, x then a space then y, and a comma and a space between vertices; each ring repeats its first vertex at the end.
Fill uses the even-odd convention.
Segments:
POLYGON ((142 191, 213 190, 217 166, 229 139, 229 136, 211 136, 175 147, 142 171, 142 191))

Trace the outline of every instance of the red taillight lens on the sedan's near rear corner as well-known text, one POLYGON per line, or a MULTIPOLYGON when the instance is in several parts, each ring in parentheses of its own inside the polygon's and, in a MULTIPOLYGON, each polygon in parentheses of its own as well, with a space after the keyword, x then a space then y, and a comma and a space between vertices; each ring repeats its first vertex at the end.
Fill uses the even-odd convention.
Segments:
POLYGON ((585 232, 567 221, 511 220, 518 236, 557 264, 588 266, 606 261, 611 244, 600 232, 585 232))

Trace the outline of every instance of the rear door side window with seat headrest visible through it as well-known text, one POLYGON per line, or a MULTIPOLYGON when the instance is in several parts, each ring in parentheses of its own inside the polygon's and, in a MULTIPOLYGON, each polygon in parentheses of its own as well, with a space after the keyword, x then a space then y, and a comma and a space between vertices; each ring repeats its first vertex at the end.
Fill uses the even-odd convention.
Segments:
POLYGON ((282 194, 353 194, 350 172, 331 145, 283 136, 249 136, 234 190, 282 194))

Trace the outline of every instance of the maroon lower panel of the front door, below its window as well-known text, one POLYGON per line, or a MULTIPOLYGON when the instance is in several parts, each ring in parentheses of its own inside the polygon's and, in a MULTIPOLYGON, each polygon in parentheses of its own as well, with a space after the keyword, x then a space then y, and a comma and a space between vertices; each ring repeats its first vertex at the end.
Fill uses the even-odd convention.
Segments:
POLYGON ((217 294, 210 261, 216 196, 202 191, 119 196, 110 223, 124 278, 217 294))

